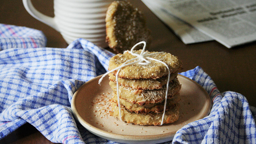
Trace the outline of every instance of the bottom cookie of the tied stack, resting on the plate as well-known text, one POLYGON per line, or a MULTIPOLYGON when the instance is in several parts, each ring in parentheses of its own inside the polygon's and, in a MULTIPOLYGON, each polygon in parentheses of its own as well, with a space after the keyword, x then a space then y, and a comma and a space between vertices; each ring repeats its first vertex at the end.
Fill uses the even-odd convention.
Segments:
MULTIPOLYGON (((112 111, 110 111, 110 115, 115 116, 116 118, 119 117, 119 110, 118 106, 115 102, 111 102, 112 111)), ((134 113, 126 110, 126 108, 120 108, 122 120, 126 121, 127 123, 134 123, 136 125, 160 125, 162 120, 163 113, 134 113)), ((164 124, 173 123, 177 121, 179 118, 179 106, 178 104, 170 108, 169 110, 165 111, 164 115, 164 124)))

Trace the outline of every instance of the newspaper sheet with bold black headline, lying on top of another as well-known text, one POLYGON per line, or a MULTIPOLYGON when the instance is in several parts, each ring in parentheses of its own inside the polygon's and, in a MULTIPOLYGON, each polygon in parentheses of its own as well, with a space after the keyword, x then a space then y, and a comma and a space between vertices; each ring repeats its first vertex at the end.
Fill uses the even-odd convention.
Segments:
POLYGON ((256 0, 147 0, 228 48, 256 40, 256 0))

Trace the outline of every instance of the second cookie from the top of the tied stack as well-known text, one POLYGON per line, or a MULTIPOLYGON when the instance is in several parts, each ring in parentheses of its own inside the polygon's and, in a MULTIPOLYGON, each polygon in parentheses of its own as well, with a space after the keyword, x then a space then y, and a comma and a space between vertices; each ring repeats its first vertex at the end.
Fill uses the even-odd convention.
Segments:
MULTIPOLYGON (((178 72, 171 73, 170 74, 170 81, 175 79, 178 75, 178 72)), ((114 76, 112 73, 109 73, 109 80, 115 81, 116 76, 114 76)), ((118 78, 118 84, 125 86, 125 87, 131 87, 133 89, 161 89, 164 85, 167 84, 168 76, 163 76, 158 79, 124 79, 124 78, 118 78)))

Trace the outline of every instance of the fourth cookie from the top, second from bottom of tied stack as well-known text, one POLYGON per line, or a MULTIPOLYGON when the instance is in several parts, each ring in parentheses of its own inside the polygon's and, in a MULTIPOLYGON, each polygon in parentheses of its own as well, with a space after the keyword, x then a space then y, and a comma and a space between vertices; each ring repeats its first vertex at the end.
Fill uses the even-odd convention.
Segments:
MULTIPOLYGON (((146 105, 143 105, 143 106, 138 105, 138 104, 130 103, 130 102, 128 102, 124 99, 121 99, 121 98, 119 100, 120 100, 120 105, 122 107, 125 107, 130 112, 135 112, 135 113, 149 113, 149 112, 162 113, 164 111, 164 100, 162 102, 159 102, 159 103, 155 103, 155 104, 150 103, 150 104, 146 104, 146 105)), ((112 101, 117 103, 117 105, 118 105, 117 94, 113 93, 112 101)), ((178 95, 175 95, 170 99, 167 99, 166 110, 168 110, 169 108, 175 107, 175 105, 177 105, 177 102, 178 102, 178 95)))

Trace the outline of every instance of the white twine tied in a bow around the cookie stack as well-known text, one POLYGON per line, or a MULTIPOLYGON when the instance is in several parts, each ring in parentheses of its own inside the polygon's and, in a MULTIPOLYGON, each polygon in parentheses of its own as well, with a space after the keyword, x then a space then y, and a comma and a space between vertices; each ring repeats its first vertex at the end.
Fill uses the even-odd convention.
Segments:
POLYGON ((160 60, 157 60, 157 59, 154 59, 154 58, 151 58, 149 56, 151 55, 157 55, 157 54, 160 54, 160 53, 164 53, 164 52, 156 52, 156 53, 150 53, 150 54, 147 54, 148 52, 144 52, 146 49, 146 42, 144 41, 141 41, 141 42, 138 42, 137 44, 135 44, 131 50, 126 50, 124 53, 128 52, 130 53, 131 55, 133 56, 137 56, 136 58, 133 58, 131 60, 128 60, 128 61, 125 61, 122 65, 118 66, 117 68, 114 68, 113 70, 111 71, 108 71, 107 73, 105 73, 100 79, 99 79, 99 84, 100 82, 102 81, 102 79, 109 73, 112 73, 113 71, 116 71, 117 70, 117 74, 115 76, 115 80, 117 82, 117 101, 118 101, 118 110, 119 110, 119 117, 120 117, 120 120, 122 120, 122 115, 121 115, 121 107, 120 107, 120 98, 119 98, 119 90, 118 90, 118 74, 120 72, 120 70, 125 67, 125 66, 128 66, 128 65, 133 65, 134 63, 138 63, 139 65, 148 65, 149 63, 151 63, 150 61, 148 60, 154 60, 154 61, 157 61, 159 63, 162 63, 166 66, 167 70, 168 70, 168 80, 167 80, 167 85, 166 85, 166 92, 165 92, 165 101, 164 101, 164 112, 163 112, 163 115, 162 115, 162 120, 161 120, 161 124, 160 125, 163 125, 164 123, 164 115, 165 115, 165 109, 166 109, 166 101, 167 101, 167 95, 168 95, 168 87, 169 87, 169 82, 170 82, 170 69, 168 67, 168 65, 166 63, 164 63, 163 61, 160 61, 160 60), (133 53, 133 49, 139 45, 139 44, 144 44, 143 46, 143 49, 141 51, 140 54, 136 54, 136 53, 133 53), (136 60, 136 61, 134 61, 136 60), (130 61, 133 61, 131 63, 129 63, 130 61))

